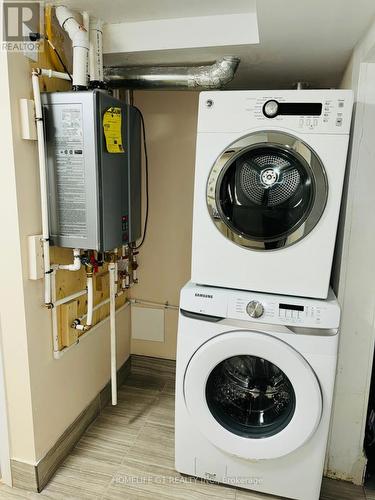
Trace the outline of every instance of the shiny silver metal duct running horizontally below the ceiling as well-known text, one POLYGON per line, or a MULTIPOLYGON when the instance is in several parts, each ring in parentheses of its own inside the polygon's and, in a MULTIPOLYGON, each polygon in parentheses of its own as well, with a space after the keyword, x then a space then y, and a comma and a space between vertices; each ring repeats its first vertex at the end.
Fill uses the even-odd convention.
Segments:
POLYGON ((104 68, 110 87, 217 89, 229 83, 240 59, 228 56, 206 66, 116 66, 104 68))

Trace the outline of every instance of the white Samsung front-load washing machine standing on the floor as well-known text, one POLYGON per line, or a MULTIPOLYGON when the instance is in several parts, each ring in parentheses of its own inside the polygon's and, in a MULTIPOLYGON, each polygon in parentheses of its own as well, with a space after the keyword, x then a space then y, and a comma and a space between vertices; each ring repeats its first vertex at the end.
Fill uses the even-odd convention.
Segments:
POLYGON ((187 284, 176 374, 176 469, 318 500, 340 309, 326 301, 187 284))

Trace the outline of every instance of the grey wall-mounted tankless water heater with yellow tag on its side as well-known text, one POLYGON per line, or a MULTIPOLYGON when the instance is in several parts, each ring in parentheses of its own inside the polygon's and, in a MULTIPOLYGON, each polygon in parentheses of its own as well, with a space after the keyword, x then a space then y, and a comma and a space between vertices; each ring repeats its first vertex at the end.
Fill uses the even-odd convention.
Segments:
POLYGON ((141 235, 141 116, 103 90, 42 95, 53 245, 109 251, 141 235))

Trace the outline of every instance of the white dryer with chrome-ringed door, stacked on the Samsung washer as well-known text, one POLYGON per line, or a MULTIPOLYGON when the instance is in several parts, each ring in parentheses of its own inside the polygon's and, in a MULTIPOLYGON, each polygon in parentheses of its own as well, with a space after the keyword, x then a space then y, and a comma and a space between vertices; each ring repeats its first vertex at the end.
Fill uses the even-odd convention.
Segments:
POLYGON ((347 90, 201 93, 193 282, 327 297, 352 102, 347 90))

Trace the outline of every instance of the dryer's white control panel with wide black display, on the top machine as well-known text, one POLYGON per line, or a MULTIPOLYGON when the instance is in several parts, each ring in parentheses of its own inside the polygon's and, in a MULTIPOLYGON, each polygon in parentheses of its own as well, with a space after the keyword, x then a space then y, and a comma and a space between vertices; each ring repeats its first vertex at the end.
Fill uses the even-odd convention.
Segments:
POLYGON ((352 107, 351 90, 202 92, 198 132, 262 127, 306 134, 349 134, 352 107))

